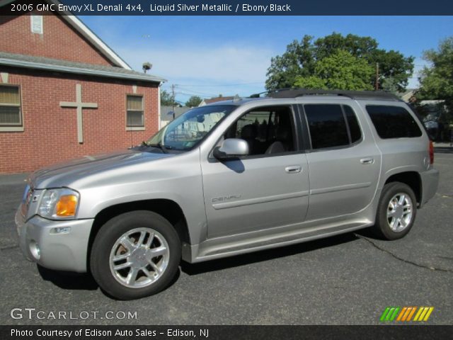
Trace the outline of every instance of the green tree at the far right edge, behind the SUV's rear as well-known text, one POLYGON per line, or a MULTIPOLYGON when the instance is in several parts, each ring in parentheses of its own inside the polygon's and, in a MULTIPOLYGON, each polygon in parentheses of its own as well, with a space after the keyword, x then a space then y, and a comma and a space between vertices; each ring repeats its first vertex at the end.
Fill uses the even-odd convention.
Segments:
POLYGON ((453 123, 453 36, 442 40, 437 50, 425 51, 423 58, 430 66, 420 73, 417 99, 444 100, 453 123))

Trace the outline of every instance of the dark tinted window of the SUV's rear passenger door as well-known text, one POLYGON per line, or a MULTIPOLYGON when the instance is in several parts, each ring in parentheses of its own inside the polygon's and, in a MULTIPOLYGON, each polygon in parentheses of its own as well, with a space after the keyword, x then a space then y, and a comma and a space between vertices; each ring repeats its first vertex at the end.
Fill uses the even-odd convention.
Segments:
POLYGON ((306 104, 304 111, 312 149, 345 147, 362 138, 355 113, 349 106, 306 104))

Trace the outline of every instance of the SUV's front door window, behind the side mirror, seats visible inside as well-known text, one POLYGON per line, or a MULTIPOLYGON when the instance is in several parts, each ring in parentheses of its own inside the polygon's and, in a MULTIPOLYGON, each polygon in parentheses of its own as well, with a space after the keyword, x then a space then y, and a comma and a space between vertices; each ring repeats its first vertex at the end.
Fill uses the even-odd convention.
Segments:
POLYGON ((240 138, 248 154, 281 154, 295 150, 294 116, 289 106, 271 106, 248 111, 226 131, 224 138, 240 138))

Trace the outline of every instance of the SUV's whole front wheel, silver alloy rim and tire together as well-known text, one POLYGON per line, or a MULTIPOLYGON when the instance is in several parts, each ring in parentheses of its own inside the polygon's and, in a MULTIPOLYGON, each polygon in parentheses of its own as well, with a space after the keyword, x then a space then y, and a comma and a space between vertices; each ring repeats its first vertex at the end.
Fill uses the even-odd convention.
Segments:
POLYGON ((178 271, 181 244, 161 215, 126 212, 101 227, 91 250, 91 273, 98 285, 120 300, 159 293, 178 271))

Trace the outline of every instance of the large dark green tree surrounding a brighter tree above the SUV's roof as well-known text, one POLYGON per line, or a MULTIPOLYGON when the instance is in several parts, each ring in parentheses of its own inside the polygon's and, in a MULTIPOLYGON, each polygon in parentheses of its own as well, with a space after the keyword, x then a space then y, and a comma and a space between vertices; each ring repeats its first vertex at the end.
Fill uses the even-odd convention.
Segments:
MULTIPOLYGON (((297 40, 291 42, 285 53, 271 59, 266 88, 271 90, 294 87, 296 81, 301 84, 301 79, 306 79, 305 81, 312 84, 314 79, 310 77, 317 77, 316 67, 319 67, 319 62, 326 57, 337 55, 338 50, 348 52, 357 60, 365 60, 373 69, 379 63, 380 89, 384 79, 391 78, 398 91, 403 91, 413 72, 413 57, 404 57, 394 50, 379 49, 377 41, 373 38, 332 33, 313 41, 313 37, 305 35, 300 42, 297 40)), ((376 81, 374 74, 373 72, 366 79, 367 84, 373 87, 376 81)))

